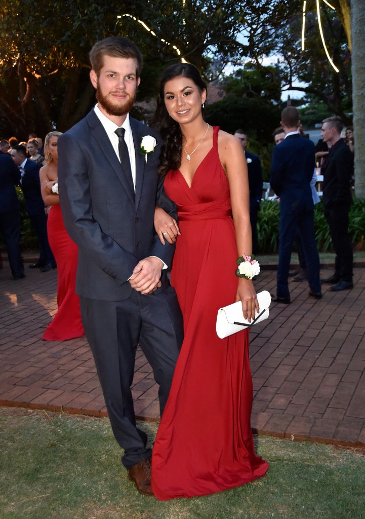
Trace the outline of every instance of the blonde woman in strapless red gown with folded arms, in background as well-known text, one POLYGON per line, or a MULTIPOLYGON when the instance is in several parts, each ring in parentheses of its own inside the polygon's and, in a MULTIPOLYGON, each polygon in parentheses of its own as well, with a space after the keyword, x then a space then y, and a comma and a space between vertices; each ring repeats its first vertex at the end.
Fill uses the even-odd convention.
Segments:
POLYGON ((40 186, 43 200, 49 207, 48 241, 57 263, 58 310, 48 325, 44 340, 68 340, 85 334, 81 322, 79 296, 75 292, 77 245, 66 233, 63 223, 57 186, 57 141, 61 135, 52 131, 45 139, 46 166, 40 168, 40 186))

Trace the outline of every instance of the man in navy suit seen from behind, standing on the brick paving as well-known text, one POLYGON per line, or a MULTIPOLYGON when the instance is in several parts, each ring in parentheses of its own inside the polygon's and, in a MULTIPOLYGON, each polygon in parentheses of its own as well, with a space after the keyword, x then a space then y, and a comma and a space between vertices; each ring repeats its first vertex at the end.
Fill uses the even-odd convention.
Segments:
POLYGON ((277 269, 277 303, 290 303, 288 275, 291 248, 297 229, 303 244, 309 295, 322 297, 319 280, 319 256, 314 232, 314 205, 310 182, 314 169, 314 143, 301 136, 299 111, 287 106, 280 124, 285 139, 274 147, 270 184, 280 197, 279 264, 277 269))

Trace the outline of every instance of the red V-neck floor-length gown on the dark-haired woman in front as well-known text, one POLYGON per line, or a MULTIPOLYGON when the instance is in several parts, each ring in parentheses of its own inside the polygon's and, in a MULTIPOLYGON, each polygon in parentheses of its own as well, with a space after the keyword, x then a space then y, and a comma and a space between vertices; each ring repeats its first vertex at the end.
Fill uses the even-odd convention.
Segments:
POLYGON ((250 426, 252 378, 248 329, 216 334, 221 306, 234 302, 237 248, 227 177, 213 147, 191 188, 179 171, 164 181, 177 204, 181 236, 172 285, 185 338, 152 454, 152 489, 159 499, 211 494, 263 476, 250 426))

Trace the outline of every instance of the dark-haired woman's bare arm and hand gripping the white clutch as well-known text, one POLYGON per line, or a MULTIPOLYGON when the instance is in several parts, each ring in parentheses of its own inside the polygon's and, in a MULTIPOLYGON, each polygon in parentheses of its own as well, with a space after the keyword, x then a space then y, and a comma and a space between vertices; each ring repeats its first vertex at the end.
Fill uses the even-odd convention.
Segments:
MULTIPOLYGON (((249 213, 249 186, 246 158, 240 141, 229 133, 219 131, 218 153, 229 182, 232 215, 238 257, 252 254, 252 234, 249 213)), ((235 269, 235 265, 232 265, 235 269)), ((259 304, 252 280, 238 278, 235 301, 242 302, 245 319, 255 317, 259 304)))

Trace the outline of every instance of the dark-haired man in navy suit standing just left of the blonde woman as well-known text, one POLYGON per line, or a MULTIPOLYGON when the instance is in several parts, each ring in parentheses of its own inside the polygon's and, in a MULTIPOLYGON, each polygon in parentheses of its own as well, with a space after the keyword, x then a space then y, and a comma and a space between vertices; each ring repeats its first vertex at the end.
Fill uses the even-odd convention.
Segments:
POLYGON ((26 158, 26 147, 22 144, 14 146, 10 154, 21 173, 20 187, 24 195, 26 210, 39 243, 38 261, 32 263, 29 267, 40 268, 41 272, 47 272, 56 267, 56 262, 48 243, 47 215, 45 203, 40 193, 40 165, 26 158))

